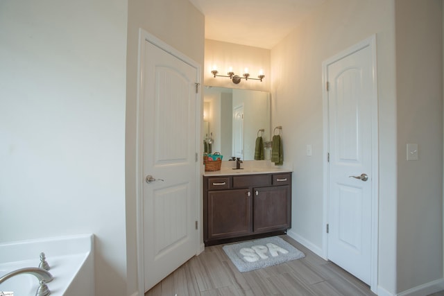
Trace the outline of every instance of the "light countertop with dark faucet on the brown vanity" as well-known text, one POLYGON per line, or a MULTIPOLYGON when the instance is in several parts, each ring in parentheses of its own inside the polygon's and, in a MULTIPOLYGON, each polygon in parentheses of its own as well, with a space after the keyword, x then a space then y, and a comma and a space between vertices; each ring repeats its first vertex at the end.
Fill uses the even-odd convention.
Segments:
POLYGON ((222 175, 254 175, 266 173, 289 173, 293 170, 282 166, 275 166, 269 161, 251 160, 241 164, 241 169, 235 169, 236 162, 222 162, 221 170, 214 172, 205 172, 204 176, 222 176, 222 175))

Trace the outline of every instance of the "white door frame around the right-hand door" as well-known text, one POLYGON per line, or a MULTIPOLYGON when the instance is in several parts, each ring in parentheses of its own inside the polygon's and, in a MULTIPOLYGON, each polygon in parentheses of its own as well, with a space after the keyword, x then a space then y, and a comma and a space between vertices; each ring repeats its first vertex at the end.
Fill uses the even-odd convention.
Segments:
MULTIPOLYGON (((376 35, 368 37, 322 63, 323 71, 323 227, 327 227, 328 223, 328 204, 329 198, 329 162, 328 153, 329 146, 329 105, 327 92, 327 67, 344 58, 347 55, 355 53, 361 49, 370 47, 373 60, 373 98, 371 102, 371 120, 372 120, 372 147, 371 147, 371 166, 372 166, 372 185, 371 185, 371 233, 370 233, 370 289, 373 293, 377 292, 377 275, 378 275, 378 221, 379 221, 379 128, 378 128, 378 95, 377 95, 377 48, 376 35)), ((323 228, 323 258, 328 260, 327 254, 327 231, 323 228)))

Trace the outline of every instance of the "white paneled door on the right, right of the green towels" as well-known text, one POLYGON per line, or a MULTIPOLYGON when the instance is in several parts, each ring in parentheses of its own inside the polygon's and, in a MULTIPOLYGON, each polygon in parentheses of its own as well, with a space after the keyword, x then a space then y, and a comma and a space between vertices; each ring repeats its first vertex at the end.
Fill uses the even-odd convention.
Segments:
POLYGON ((367 284, 372 246, 373 50, 326 65, 328 97, 327 257, 367 284))

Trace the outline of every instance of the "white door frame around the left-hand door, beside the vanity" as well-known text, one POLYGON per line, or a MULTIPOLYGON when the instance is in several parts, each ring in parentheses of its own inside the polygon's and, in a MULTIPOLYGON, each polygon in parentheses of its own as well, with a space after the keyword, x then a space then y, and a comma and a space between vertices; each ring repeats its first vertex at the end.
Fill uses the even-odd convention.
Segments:
MULTIPOLYGON (((201 66, 198 62, 187 57, 185 54, 181 53, 172 46, 169 46, 162 40, 158 39, 154 35, 151 35, 142 28, 139 28, 139 53, 137 57, 137 118, 136 118, 136 153, 135 153, 135 176, 136 176, 136 231, 137 231, 137 290, 139 296, 144 296, 144 198, 143 198, 143 186, 144 186, 144 175, 143 175, 143 119, 144 119, 144 53, 145 53, 145 42, 150 42, 151 44, 159 47, 160 49, 167 51, 171 55, 175 56, 182 62, 189 64, 191 67, 196 68, 196 83, 198 83, 198 92, 196 92, 196 221, 198 225, 201 223, 201 193, 202 188, 201 178, 200 178, 200 164, 201 162, 198 155, 202 154, 200 147, 200 128, 201 128, 201 116, 202 106, 201 106, 201 94, 200 94, 200 80, 201 80, 201 66)), ((196 254, 203 251, 201 247, 201 235, 202 227, 197 227, 196 229, 196 254)))

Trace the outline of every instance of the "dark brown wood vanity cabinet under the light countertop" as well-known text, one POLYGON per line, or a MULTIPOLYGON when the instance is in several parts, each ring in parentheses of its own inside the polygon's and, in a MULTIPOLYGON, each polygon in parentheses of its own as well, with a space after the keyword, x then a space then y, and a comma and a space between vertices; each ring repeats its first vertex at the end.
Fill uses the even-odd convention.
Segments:
POLYGON ((204 176, 204 242, 286 231, 291 173, 204 176))

